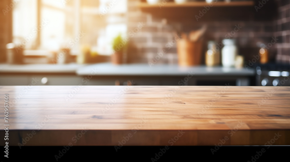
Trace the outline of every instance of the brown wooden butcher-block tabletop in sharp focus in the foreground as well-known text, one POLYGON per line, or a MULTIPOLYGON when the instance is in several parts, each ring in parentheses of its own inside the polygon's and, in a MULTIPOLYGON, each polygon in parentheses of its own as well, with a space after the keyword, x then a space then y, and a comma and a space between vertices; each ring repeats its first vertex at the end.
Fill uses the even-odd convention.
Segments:
POLYGON ((290 145, 290 87, 25 88, 0 86, 3 102, 9 94, 8 123, 0 110, 9 146, 265 145, 273 137, 290 145))

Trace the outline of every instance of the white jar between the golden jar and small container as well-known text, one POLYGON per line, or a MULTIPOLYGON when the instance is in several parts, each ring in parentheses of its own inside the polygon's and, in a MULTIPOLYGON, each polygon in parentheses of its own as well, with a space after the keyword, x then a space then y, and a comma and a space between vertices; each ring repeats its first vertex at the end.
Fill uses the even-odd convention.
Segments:
POLYGON ((222 66, 233 67, 235 65, 235 57, 237 55, 237 47, 234 39, 224 39, 222 41, 222 66))

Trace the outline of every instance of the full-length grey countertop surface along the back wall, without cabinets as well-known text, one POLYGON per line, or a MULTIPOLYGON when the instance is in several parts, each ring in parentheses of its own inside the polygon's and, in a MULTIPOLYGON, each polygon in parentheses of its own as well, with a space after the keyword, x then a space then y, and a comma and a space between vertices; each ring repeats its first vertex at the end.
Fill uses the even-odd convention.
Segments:
POLYGON ((180 67, 178 65, 151 65, 149 64, 123 64, 113 65, 108 63, 98 64, 23 64, 9 65, 0 64, 0 73, 75 73, 86 76, 94 72, 100 76, 186 76, 188 74, 209 76, 254 76, 253 68, 236 69, 234 67, 180 67))

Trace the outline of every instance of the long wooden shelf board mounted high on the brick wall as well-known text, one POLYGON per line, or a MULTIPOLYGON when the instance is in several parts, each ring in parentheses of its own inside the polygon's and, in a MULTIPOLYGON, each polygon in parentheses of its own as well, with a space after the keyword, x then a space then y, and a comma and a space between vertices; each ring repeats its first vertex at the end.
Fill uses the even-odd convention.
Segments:
MULTIPOLYGON (((161 8, 203 7, 209 4, 210 3, 206 2, 186 2, 182 4, 177 4, 175 2, 167 2, 166 4, 162 5, 161 8)), ((233 2, 216 2, 216 3, 213 2, 212 4, 213 4, 212 7, 253 6, 254 1, 233 1, 233 2)), ((139 3, 139 8, 160 8, 160 5, 158 3, 148 4, 147 2, 141 2, 139 3)))

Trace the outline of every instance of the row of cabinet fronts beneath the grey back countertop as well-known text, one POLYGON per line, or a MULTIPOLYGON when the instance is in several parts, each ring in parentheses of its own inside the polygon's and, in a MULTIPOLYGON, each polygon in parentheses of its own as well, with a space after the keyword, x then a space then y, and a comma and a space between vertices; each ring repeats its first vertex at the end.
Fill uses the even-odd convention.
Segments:
POLYGON ((86 76, 66 75, 66 74, 22 74, 22 75, 1 75, 0 85, 126 85, 131 81, 133 85, 162 85, 162 86, 195 86, 195 85, 225 85, 231 86, 249 86, 254 77, 192 77, 186 82, 186 76, 94 76, 88 79, 86 76), (41 82, 47 80, 46 82, 41 82))

